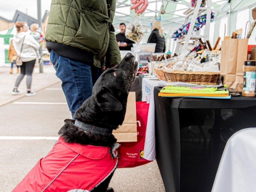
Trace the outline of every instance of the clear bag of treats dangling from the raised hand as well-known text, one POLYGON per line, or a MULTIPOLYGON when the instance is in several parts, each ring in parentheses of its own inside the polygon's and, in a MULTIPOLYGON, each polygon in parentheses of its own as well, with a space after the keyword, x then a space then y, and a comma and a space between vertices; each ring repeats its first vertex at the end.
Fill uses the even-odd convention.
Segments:
POLYGON ((140 21, 140 16, 136 15, 134 19, 129 23, 125 30, 125 36, 134 41, 135 43, 139 44, 142 40, 142 37, 144 35, 144 30, 142 23, 140 21))

